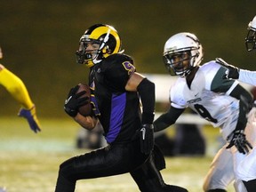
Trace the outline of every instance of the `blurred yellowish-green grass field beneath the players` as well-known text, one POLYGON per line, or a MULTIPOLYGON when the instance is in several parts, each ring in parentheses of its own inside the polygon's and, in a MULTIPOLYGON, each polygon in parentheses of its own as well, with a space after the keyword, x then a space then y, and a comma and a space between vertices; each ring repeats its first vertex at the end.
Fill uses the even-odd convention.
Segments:
MULTIPOLYGON (((0 186, 8 192, 53 192, 59 165, 71 156, 83 154, 76 149, 79 126, 69 118, 41 119, 43 131, 35 134, 19 117, 0 118, 0 186)), ((171 129, 170 129, 171 130, 171 129)), ((218 129, 204 128, 207 155, 204 157, 166 157, 162 171, 167 183, 203 191, 204 176, 218 148, 218 129)), ((77 192, 137 192, 129 174, 93 180, 79 180, 77 192)), ((234 191, 232 186, 228 191, 234 191)))

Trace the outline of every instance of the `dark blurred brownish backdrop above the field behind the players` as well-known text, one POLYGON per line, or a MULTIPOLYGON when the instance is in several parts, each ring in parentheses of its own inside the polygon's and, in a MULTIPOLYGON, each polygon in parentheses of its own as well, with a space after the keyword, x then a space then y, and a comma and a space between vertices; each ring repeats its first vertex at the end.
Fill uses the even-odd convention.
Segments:
MULTIPOLYGON (((76 64, 84 30, 95 23, 113 25, 125 53, 141 73, 167 74, 165 41, 175 33, 195 33, 204 61, 221 57, 240 68, 256 70, 256 52, 246 52, 247 25, 254 0, 0 0, 0 62, 23 80, 38 117, 63 117, 69 88, 87 82, 88 68, 76 64)), ((169 88, 168 88, 169 89, 169 88)), ((17 102, 0 87, 0 116, 16 116, 17 102)))

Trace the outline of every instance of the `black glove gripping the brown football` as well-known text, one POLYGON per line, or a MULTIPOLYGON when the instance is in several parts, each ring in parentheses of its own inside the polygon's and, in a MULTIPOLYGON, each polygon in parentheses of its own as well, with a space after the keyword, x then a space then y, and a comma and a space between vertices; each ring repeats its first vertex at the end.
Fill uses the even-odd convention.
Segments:
POLYGON ((68 99, 65 100, 64 110, 68 114, 68 116, 76 116, 78 109, 86 105, 89 101, 88 97, 80 98, 82 95, 85 94, 85 91, 76 93, 79 89, 79 85, 71 88, 68 93, 68 99))

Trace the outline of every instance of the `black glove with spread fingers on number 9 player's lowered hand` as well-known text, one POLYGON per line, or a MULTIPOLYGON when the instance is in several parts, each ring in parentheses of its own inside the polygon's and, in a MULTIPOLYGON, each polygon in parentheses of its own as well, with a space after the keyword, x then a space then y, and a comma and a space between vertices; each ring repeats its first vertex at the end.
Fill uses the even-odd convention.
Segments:
POLYGON ((231 148, 234 145, 243 154, 248 153, 250 148, 252 149, 251 143, 245 138, 244 130, 235 130, 233 132, 232 139, 229 141, 227 148, 231 148))

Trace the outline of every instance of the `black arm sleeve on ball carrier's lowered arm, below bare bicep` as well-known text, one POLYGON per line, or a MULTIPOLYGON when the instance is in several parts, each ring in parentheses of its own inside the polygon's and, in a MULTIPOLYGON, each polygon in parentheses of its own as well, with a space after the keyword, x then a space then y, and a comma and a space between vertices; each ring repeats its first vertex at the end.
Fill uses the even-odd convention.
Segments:
POLYGON ((137 87, 142 103, 142 124, 153 124, 155 117, 155 84, 144 78, 137 87))

